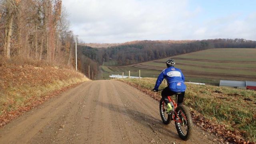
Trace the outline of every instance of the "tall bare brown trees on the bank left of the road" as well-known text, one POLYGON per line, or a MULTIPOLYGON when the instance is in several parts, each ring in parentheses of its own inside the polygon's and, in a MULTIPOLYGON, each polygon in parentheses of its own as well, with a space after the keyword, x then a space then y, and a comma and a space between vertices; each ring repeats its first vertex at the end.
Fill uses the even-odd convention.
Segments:
POLYGON ((76 36, 61 0, 0 1, 0 54, 74 65, 76 36))

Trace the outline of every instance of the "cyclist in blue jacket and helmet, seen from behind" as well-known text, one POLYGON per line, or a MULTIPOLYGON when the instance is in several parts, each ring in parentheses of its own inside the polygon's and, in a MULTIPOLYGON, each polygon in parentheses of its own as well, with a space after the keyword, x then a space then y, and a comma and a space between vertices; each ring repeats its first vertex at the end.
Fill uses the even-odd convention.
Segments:
POLYGON ((161 95, 164 98, 164 102, 167 105, 167 113, 172 111, 172 106, 167 98, 167 96, 174 95, 175 93, 180 92, 181 94, 178 97, 178 105, 182 105, 186 85, 185 85, 185 77, 180 69, 174 67, 175 61, 174 59, 168 59, 166 61, 167 68, 164 69, 156 80, 156 85, 153 89, 154 92, 158 91, 158 87, 162 83, 164 79, 167 80, 168 87, 164 88, 161 95))

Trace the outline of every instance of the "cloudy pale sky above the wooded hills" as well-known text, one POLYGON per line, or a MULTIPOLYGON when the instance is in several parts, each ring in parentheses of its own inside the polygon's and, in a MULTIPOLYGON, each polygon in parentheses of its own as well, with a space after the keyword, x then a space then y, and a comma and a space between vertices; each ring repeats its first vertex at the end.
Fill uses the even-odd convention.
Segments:
POLYGON ((256 40, 256 0, 63 0, 85 43, 244 38, 256 40))

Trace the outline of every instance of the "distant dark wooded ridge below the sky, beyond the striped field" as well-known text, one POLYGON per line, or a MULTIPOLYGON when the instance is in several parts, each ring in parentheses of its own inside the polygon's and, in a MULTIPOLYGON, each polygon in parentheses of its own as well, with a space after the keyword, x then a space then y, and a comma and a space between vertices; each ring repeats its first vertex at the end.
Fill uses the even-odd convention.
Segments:
POLYGON ((99 64, 114 61, 115 65, 130 65, 212 48, 256 48, 256 41, 246 39, 207 39, 196 41, 136 41, 108 48, 80 45, 83 55, 99 64))

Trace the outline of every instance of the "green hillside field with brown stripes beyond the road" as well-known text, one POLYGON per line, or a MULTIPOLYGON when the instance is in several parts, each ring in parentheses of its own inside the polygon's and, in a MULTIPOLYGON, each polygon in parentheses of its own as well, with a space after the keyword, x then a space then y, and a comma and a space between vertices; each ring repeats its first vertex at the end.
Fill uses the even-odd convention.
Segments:
MULTIPOLYGON (((122 72, 128 75, 128 71, 131 71, 131 76, 138 76, 139 69, 141 77, 157 77, 166 68, 168 58, 129 66, 102 67, 104 78, 111 74, 122 75, 122 72)), ((215 85, 220 79, 256 81, 256 49, 207 49, 172 58, 176 61, 175 67, 183 71, 186 81, 215 85)))

